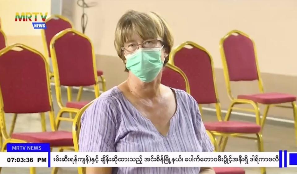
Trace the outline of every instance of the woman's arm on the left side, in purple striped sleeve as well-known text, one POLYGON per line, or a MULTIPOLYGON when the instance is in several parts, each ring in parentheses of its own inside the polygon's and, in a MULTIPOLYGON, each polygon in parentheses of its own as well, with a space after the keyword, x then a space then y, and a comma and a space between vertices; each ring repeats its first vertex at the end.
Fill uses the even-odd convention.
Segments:
MULTIPOLYGON (((80 152, 115 152, 115 108, 106 98, 98 98, 81 119, 80 152)), ((87 167, 86 174, 111 174, 111 167, 87 167)))

